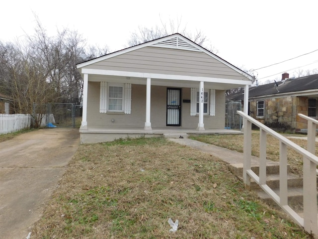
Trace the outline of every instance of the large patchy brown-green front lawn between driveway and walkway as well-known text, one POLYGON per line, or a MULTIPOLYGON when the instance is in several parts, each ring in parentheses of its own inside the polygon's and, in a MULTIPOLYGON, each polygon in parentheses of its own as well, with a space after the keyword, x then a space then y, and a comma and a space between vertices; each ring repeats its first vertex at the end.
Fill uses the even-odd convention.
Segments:
POLYGON ((218 158, 164 138, 80 145, 33 239, 310 238, 218 158), (167 220, 179 220, 170 233, 167 220))

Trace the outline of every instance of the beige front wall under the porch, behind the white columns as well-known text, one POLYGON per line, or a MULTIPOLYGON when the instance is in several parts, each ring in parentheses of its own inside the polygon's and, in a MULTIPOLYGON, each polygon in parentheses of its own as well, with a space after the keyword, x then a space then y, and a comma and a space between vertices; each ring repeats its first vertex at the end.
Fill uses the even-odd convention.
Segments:
MULTIPOLYGON (((131 114, 99 113, 99 82, 88 82, 87 126, 104 128, 144 127, 146 119, 146 86, 132 85, 131 114), (112 122, 114 119, 114 122, 112 122)), ((166 87, 151 88, 151 123, 152 127, 166 126, 166 87)), ((181 127, 196 128, 199 118, 190 116, 190 88, 182 88, 181 127)), ((216 91, 216 116, 204 117, 205 128, 224 128, 225 91, 216 91)))

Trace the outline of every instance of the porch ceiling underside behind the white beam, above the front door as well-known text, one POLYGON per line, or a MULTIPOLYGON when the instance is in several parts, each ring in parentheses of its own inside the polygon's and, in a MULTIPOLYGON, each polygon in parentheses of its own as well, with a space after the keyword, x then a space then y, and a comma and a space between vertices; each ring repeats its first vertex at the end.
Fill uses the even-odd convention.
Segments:
MULTIPOLYGON (((109 75, 96 75, 96 74, 88 74, 88 81, 93 82, 114 82, 114 83, 131 83, 137 85, 146 85, 147 78, 142 77, 125 77, 125 76, 109 76, 109 75)), ((243 84, 233 84, 226 83, 226 81, 232 81, 228 79, 224 79, 225 82, 204 82, 205 88, 216 89, 216 90, 229 90, 233 88, 243 87, 243 84)), ((249 84, 246 81, 245 84, 249 84)), ((169 79, 151 79, 152 86, 166 86, 166 87, 185 87, 185 88, 198 88, 198 81, 190 81, 190 80, 169 80, 169 79)))

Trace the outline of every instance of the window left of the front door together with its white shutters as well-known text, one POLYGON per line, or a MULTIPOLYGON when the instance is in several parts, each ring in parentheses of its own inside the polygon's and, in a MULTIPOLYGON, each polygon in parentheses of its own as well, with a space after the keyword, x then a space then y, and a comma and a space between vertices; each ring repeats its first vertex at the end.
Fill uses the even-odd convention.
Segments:
POLYGON ((100 113, 131 113, 131 84, 100 83, 100 113))

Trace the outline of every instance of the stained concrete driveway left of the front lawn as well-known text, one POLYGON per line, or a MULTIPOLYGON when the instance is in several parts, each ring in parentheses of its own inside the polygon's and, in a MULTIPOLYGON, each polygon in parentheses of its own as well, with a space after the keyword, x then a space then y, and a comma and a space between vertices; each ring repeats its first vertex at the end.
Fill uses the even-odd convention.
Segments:
POLYGON ((78 128, 39 129, 0 143, 0 238, 28 236, 78 147, 78 128))

